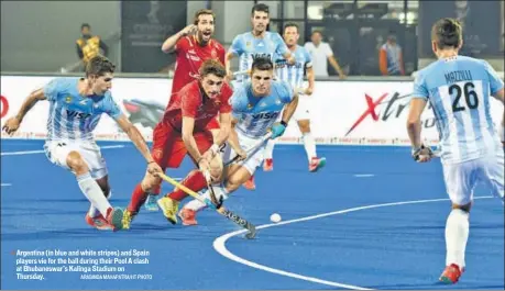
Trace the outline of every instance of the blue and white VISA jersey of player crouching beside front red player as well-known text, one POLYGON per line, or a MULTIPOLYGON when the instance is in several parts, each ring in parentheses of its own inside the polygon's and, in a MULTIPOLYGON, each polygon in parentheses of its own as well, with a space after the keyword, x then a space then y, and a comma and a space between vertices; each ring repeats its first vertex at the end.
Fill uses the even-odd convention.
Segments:
POLYGON ((289 83, 281 80, 272 81, 271 93, 265 97, 253 96, 251 81, 235 87, 230 101, 238 120, 235 128, 249 137, 264 136, 293 97, 289 83))

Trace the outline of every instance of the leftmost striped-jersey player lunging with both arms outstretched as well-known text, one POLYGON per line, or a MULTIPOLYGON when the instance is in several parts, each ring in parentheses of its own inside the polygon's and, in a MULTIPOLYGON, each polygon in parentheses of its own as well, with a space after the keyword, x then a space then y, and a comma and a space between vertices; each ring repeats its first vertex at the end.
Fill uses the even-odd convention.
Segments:
POLYGON ((9 119, 3 130, 14 133, 25 114, 41 100, 51 103, 47 138, 44 150, 55 165, 74 172, 85 197, 91 202, 86 222, 99 230, 121 230, 123 211, 112 209, 107 167, 92 131, 106 113, 119 124, 141 152, 150 175, 161 168, 151 157, 144 138, 128 117, 121 113, 110 93, 114 65, 103 56, 90 59, 86 78, 56 78, 44 88, 33 91, 19 113, 9 119))

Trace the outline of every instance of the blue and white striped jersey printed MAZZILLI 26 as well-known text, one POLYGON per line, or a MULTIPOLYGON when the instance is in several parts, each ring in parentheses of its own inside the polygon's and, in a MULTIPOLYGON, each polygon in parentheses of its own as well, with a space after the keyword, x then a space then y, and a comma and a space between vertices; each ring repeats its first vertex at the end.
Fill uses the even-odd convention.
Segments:
POLYGON ((439 59, 419 71, 413 98, 431 103, 442 163, 503 154, 490 109, 491 94, 503 87, 486 61, 465 56, 439 59))

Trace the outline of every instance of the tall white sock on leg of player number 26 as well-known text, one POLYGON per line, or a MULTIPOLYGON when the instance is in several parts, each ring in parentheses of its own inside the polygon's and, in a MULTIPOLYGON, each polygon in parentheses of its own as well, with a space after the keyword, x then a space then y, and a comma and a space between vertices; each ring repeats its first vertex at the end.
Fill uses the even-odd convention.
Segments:
POLYGON ((447 217, 446 224, 446 266, 455 264, 460 269, 464 267, 464 251, 469 232, 469 213, 460 209, 453 209, 449 217, 447 217))

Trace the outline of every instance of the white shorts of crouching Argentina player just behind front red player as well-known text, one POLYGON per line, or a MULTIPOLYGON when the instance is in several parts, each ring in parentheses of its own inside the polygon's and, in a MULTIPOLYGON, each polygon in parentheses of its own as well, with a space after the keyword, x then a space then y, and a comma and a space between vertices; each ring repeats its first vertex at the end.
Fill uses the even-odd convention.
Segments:
MULTIPOLYGON (((239 144, 240 146, 248 152, 248 158, 241 161, 234 161, 233 164, 245 167, 251 175, 254 175, 254 171, 263 161, 263 152, 265 149, 266 143, 263 143, 260 147, 254 149, 255 152, 249 153, 250 149, 260 143, 262 137, 249 137, 241 134, 237 131, 237 135, 239 136, 239 144)), ((231 148, 230 144, 227 142, 224 144, 224 148, 221 149, 221 158, 222 163, 226 165, 230 160, 232 160, 237 156, 233 148, 231 148)))

